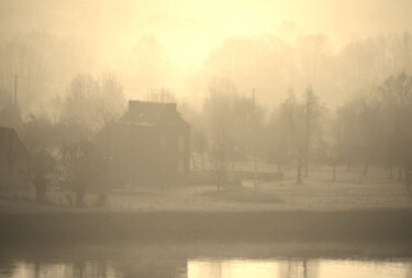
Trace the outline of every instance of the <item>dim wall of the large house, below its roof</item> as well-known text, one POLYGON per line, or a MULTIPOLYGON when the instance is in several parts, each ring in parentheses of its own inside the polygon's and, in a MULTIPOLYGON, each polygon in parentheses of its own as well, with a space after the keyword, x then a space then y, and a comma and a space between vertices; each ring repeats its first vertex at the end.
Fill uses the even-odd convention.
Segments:
POLYGON ((189 129, 115 124, 99 136, 113 157, 111 177, 120 187, 164 185, 189 173, 189 129))

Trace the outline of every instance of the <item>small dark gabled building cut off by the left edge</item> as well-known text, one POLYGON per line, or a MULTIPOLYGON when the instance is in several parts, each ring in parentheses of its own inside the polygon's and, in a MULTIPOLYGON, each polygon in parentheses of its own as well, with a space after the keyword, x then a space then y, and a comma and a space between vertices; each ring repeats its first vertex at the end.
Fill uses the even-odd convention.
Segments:
POLYGON ((0 127, 0 189, 30 185, 30 154, 13 129, 0 127))

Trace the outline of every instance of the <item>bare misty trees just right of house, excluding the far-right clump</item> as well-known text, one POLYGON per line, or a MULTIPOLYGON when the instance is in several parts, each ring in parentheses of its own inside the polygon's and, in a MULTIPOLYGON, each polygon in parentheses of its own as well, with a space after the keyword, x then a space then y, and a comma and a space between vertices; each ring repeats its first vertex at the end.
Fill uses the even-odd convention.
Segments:
POLYGON ((290 90, 268 114, 254 94, 241 97, 233 84, 214 80, 201 111, 203 124, 194 124, 193 152, 203 157, 207 149, 218 188, 227 181, 229 170, 236 169, 236 162, 250 159, 254 170, 256 160, 265 159, 277 164, 279 173, 293 160, 301 184, 302 176, 308 176, 311 151, 321 141, 323 114, 324 108, 310 87, 303 100, 290 90))

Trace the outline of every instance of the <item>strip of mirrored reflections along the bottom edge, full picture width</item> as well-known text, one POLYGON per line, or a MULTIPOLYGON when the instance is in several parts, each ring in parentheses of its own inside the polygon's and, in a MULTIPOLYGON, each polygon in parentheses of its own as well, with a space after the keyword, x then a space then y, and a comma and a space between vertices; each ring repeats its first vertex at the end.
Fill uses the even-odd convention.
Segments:
POLYGON ((147 269, 141 264, 119 262, 16 262, 0 266, 4 278, 112 278, 112 277, 187 277, 187 278, 411 278, 412 260, 353 259, 187 259, 158 264, 147 269), (123 268, 122 268, 123 267, 123 268), (136 269, 134 269, 136 268, 136 269))

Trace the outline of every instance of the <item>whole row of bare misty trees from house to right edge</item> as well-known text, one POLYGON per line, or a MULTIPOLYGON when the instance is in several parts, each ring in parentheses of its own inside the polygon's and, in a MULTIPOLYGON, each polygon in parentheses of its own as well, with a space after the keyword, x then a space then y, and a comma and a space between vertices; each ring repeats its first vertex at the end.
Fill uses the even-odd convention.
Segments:
MULTIPOLYGON (((194 119, 192 146, 202 158, 208 154, 218 187, 227 181, 240 160, 267 160, 282 171, 294 165, 297 184, 309 176, 310 165, 386 167, 402 179, 412 138, 412 76, 400 73, 327 110, 308 87, 292 89, 272 109, 241 97, 227 80, 211 82, 202 111, 194 119), (268 112, 269 111, 269 112, 268 112), (231 167, 232 166, 232 167, 231 167)), ((204 166, 202 166, 204 169, 204 166)))

